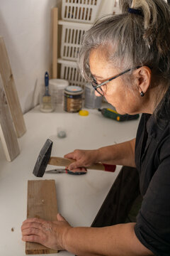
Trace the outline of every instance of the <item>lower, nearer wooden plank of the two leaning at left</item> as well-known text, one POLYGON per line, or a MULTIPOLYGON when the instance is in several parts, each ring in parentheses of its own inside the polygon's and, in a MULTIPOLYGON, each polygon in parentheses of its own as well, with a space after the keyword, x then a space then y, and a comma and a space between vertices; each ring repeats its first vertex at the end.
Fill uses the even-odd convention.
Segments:
POLYGON ((7 161, 12 161, 20 153, 11 113, 6 101, 3 81, 0 74, 0 138, 7 161))

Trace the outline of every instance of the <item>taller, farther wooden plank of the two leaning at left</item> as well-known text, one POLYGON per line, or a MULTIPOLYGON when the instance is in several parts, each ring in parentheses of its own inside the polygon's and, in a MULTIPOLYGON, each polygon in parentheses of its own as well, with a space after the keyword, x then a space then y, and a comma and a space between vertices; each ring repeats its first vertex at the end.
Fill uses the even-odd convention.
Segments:
POLYGON ((23 119, 23 113, 18 100, 16 85, 13 80, 11 65, 8 59, 8 53, 2 37, 0 37, 0 59, 0 73, 4 82, 4 90, 6 93, 8 106, 11 111, 14 127, 16 129, 16 135, 17 137, 21 137, 26 132, 26 124, 23 119))

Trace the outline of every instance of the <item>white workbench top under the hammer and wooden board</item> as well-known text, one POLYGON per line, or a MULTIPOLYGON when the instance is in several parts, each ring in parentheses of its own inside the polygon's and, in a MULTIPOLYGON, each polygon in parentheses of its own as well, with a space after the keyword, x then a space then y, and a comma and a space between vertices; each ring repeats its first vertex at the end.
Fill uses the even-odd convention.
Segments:
MULTIPOLYGON (((21 154, 16 159, 6 161, 0 142, 1 256, 25 255, 21 224, 26 219, 27 183, 40 179, 33 176, 33 167, 47 138, 53 141, 51 156, 64 156, 74 149, 96 149, 132 139, 139 122, 116 122, 97 110, 89 110, 89 116, 81 117, 61 108, 42 113, 38 107, 24 114, 24 119, 27 132, 18 139, 21 154), (57 138, 57 127, 66 129, 66 138, 57 138)), ((90 226, 119 171, 117 166, 115 173, 89 170, 82 176, 45 174, 43 179, 55 179, 58 211, 64 218, 74 226, 90 226)), ((59 255, 72 254, 63 251, 59 255)))

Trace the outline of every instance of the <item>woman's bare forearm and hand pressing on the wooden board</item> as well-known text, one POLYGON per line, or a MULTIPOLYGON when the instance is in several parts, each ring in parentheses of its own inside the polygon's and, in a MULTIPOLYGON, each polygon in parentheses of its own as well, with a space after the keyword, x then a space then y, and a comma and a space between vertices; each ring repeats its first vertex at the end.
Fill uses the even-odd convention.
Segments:
POLYGON ((79 256, 153 255, 134 231, 135 223, 105 228, 72 228, 61 216, 56 221, 28 219, 21 227, 23 241, 39 242, 55 250, 67 250, 79 256))

